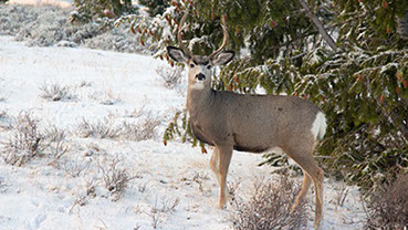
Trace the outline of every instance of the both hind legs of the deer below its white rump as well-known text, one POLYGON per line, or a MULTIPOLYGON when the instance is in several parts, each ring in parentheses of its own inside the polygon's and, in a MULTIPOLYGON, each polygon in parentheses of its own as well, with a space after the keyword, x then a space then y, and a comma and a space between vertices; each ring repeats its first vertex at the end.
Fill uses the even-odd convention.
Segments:
MULTIPOLYGON (((312 149, 312 147, 310 149, 312 149)), ((314 184, 316 203, 313 227, 318 229, 323 218, 323 169, 317 166, 316 160, 313 158, 312 150, 305 151, 303 149, 303 151, 294 151, 291 149, 286 151, 286 154, 303 169, 303 172, 305 174, 296 202, 301 201, 301 199, 306 195, 311 184, 310 179, 312 179, 314 184)))

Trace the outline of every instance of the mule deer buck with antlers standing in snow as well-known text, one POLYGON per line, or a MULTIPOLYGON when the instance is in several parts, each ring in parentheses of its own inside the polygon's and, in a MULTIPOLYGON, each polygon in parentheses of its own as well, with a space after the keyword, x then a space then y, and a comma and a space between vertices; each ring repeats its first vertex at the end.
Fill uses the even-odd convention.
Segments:
POLYGON ((228 41, 222 18, 222 45, 209 56, 193 55, 181 42, 184 14, 177 39, 180 48, 167 46, 169 56, 188 66, 187 108, 190 127, 201 142, 215 146, 210 168, 220 185, 219 208, 227 203, 227 174, 232 150, 262 153, 281 148, 304 174, 302 189, 292 209, 307 194, 313 180, 316 194, 314 227, 322 220, 323 170, 312 156, 315 143, 326 129, 325 115, 308 101, 285 95, 243 95, 211 88, 211 69, 224 65, 233 51, 221 52, 228 41))

